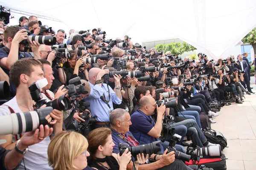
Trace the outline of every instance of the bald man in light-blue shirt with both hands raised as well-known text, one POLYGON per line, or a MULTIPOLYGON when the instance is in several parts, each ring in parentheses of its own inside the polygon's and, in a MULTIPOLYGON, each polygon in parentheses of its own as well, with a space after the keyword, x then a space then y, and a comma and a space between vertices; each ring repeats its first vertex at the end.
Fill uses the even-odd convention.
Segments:
POLYGON ((110 86, 103 83, 103 76, 109 74, 108 69, 91 68, 88 72, 89 85, 91 88, 90 95, 85 98, 90 103, 90 111, 92 116, 97 116, 95 128, 110 127, 109 115, 113 111, 113 102, 120 105, 122 102, 120 77, 114 75, 115 88, 114 91, 110 86))

